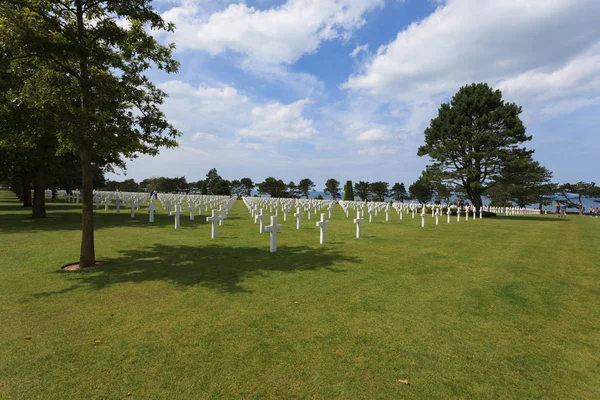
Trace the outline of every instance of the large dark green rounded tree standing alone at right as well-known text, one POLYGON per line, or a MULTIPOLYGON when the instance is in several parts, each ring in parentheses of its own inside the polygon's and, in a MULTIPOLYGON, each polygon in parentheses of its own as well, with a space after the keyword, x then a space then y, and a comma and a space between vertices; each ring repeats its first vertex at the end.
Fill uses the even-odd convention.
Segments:
POLYGON ((464 189, 473 205, 481 207, 481 196, 507 166, 533 153, 519 147, 531 140, 519 118, 521 111, 485 83, 464 86, 450 103, 441 105, 418 154, 429 156, 444 181, 464 189))

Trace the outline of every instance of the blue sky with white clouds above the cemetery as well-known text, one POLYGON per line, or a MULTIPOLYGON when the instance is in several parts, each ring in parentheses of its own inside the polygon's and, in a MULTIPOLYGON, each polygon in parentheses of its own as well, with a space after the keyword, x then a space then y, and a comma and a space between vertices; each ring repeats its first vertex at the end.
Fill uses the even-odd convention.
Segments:
POLYGON ((598 0, 156 0, 178 74, 150 71, 179 147, 126 176, 414 182, 424 130, 464 85, 523 107, 558 183, 596 181, 598 0))

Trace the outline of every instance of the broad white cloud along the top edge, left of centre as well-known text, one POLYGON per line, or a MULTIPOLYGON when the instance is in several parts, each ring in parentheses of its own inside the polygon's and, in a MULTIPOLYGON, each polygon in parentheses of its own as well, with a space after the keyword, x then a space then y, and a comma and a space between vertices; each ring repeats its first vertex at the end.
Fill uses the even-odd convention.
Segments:
POLYGON ((296 62, 324 40, 346 39, 364 25, 364 14, 383 0, 288 0, 259 10, 231 4, 207 19, 197 3, 184 1, 163 13, 177 26, 178 48, 203 49, 211 55, 227 50, 269 63, 296 62))

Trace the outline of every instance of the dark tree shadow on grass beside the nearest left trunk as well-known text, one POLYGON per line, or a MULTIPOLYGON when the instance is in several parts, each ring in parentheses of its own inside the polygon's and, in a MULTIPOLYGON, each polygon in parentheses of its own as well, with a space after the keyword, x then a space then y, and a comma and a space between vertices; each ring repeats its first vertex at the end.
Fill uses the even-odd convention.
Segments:
MULTIPOLYGON (((103 289, 121 283, 166 281, 180 287, 201 285, 228 293, 247 292, 241 283, 249 278, 265 276, 269 271, 298 273, 326 269, 344 272, 339 263, 361 263, 357 257, 331 248, 307 246, 279 247, 277 253, 252 247, 211 245, 168 246, 155 244, 136 250, 125 250, 109 264, 84 271, 60 271, 72 287, 103 289)), ((38 293, 43 297, 63 291, 38 293)))

